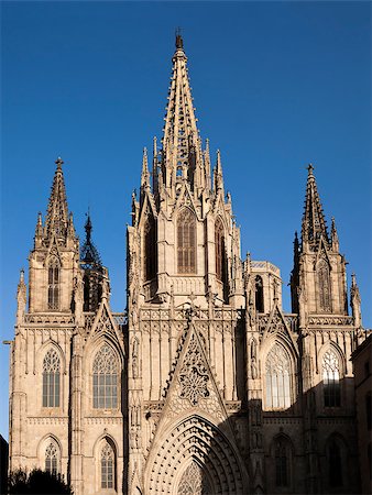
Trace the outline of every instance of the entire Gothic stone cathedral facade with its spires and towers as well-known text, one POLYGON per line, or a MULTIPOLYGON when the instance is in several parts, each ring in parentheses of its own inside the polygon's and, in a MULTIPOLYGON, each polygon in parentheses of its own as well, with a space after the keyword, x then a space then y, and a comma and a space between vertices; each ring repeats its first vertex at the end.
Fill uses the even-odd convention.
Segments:
POLYGON ((18 286, 10 469, 62 473, 76 495, 358 493, 351 353, 355 277, 308 167, 292 312, 280 270, 242 258, 220 154, 201 142, 176 37, 163 139, 143 153, 127 233, 127 310, 56 161, 18 286))

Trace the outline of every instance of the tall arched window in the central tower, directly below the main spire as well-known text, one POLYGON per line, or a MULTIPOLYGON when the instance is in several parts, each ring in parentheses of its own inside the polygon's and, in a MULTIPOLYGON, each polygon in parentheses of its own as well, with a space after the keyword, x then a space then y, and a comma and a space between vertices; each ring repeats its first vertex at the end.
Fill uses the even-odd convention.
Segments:
POLYGON ((196 273, 196 219, 188 208, 183 209, 178 215, 177 261, 178 273, 196 273))

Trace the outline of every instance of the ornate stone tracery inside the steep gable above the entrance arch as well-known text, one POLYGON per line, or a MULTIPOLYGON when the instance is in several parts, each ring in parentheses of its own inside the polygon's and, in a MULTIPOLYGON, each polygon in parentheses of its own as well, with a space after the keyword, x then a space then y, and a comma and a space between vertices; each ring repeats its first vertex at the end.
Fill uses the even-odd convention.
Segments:
POLYGON ((208 382, 208 370, 196 337, 193 334, 179 372, 180 397, 187 398, 193 406, 196 406, 200 398, 209 397, 208 382))

